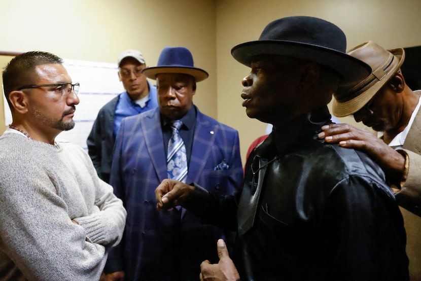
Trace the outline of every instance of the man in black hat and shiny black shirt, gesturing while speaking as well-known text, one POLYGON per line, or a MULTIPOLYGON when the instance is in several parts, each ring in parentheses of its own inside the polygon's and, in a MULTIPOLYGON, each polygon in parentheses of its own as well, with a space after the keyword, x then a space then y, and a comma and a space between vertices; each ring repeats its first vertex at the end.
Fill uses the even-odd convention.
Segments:
POLYGON ((249 156, 243 189, 218 196, 165 180, 157 206, 181 204, 238 231, 234 264, 201 264, 206 280, 408 280, 402 216, 381 168, 366 154, 325 143, 327 104, 339 85, 370 67, 345 54, 341 29, 313 17, 269 23, 258 41, 231 53, 251 67, 242 106, 273 131, 249 156))

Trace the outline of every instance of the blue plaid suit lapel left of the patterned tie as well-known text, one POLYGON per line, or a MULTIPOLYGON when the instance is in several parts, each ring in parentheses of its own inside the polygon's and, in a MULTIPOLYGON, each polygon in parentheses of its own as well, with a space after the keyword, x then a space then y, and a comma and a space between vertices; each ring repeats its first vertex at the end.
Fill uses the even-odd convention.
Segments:
POLYGON ((154 166, 158 179, 162 182, 167 179, 167 164, 165 151, 162 148, 163 137, 159 109, 147 112, 145 118, 141 119, 143 135, 145 137, 146 148, 154 166))

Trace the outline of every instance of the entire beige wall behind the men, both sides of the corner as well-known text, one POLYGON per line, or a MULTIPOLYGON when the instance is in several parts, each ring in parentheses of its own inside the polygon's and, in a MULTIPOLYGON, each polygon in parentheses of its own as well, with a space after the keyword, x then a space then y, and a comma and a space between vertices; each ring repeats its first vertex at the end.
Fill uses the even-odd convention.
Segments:
POLYGON ((43 50, 69 59, 116 62, 121 51, 134 48, 154 66, 163 47, 188 47, 196 66, 210 75, 198 83, 194 101, 205 114, 238 129, 243 161, 266 124, 249 119, 241 107, 240 82, 249 69, 230 50, 257 40, 269 21, 321 17, 344 30, 348 49, 367 40, 385 48, 421 45, 419 0, 1 1, 0 51, 43 50))

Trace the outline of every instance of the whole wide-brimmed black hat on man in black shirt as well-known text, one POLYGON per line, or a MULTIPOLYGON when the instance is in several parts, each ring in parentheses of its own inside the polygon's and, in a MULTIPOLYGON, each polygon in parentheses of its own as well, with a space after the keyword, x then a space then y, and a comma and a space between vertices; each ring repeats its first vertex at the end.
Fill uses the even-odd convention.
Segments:
POLYGON ((346 37, 335 24, 323 19, 293 16, 274 20, 258 41, 232 48, 232 56, 250 66, 258 55, 282 55, 320 63, 342 76, 341 85, 355 84, 371 74, 361 60, 346 54, 346 37))

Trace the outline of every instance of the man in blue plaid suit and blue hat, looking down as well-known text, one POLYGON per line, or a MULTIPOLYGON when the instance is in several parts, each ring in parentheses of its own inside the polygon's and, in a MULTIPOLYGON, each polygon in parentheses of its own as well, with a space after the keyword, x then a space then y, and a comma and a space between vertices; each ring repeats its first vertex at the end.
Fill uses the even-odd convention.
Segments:
POLYGON ((157 82, 156 110, 123 119, 116 137, 110 183, 127 210, 125 234, 106 267, 112 280, 198 280, 200 263, 213 257, 220 237, 233 232, 206 224, 185 209, 156 209, 155 188, 167 175, 170 122, 181 120, 186 146, 186 183, 220 194, 238 190, 243 170, 238 132, 202 114, 193 104, 196 82, 208 77, 194 67, 184 47, 164 48, 156 67, 145 68, 157 82))

